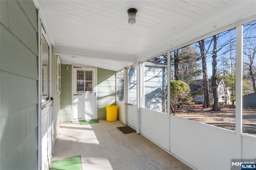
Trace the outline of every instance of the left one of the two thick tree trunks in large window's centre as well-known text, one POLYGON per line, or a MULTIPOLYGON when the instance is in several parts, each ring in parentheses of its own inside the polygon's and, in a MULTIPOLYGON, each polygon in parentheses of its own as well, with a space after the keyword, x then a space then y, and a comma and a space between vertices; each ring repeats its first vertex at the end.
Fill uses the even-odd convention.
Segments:
POLYGON ((203 78, 204 78, 204 105, 203 108, 211 108, 210 105, 210 95, 209 95, 209 81, 208 81, 208 73, 207 73, 207 65, 206 65, 206 54, 204 53, 204 40, 198 42, 201 59, 202 59, 202 70, 203 70, 203 78))

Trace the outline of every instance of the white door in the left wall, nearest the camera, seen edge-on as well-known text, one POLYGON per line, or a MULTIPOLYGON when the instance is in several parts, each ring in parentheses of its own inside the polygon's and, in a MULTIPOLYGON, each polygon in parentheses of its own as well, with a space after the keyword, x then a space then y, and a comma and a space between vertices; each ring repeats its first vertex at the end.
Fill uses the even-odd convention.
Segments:
POLYGON ((51 127, 51 44, 42 26, 39 25, 39 116, 38 116, 38 169, 47 170, 52 158, 51 127))

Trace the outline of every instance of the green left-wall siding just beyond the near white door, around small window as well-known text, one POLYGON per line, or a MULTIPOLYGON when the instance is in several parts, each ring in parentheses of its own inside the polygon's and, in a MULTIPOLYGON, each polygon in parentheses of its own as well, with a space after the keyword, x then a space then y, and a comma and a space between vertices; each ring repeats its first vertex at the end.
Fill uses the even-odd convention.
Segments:
POLYGON ((53 53, 52 46, 52 97, 53 97, 53 105, 51 106, 51 115, 52 115, 52 147, 54 146, 58 127, 60 125, 60 94, 57 94, 57 65, 58 59, 57 55, 53 53))

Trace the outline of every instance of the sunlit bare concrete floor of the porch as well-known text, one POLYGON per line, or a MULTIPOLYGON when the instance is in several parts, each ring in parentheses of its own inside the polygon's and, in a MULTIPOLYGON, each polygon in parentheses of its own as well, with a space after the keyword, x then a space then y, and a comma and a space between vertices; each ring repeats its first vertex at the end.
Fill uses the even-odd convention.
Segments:
POLYGON ((123 134, 120 121, 62 123, 52 161, 81 155, 83 170, 188 170, 188 166, 140 134, 123 134))

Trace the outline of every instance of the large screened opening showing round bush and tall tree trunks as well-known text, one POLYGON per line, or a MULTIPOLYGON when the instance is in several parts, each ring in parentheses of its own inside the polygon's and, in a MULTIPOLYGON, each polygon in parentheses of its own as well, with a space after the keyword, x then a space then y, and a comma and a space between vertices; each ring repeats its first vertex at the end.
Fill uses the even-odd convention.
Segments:
POLYGON ((170 52, 171 114, 235 130, 236 29, 170 52))

